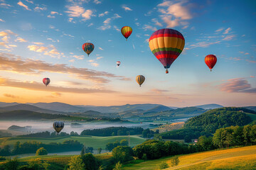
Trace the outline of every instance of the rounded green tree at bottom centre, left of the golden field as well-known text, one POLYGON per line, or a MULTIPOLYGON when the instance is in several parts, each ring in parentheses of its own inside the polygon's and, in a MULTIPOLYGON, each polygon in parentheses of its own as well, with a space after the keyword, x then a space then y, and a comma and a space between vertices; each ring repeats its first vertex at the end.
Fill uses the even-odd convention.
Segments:
POLYGON ((112 150, 112 155, 115 162, 127 162, 132 159, 132 148, 127 146, 115 147, 112 150))

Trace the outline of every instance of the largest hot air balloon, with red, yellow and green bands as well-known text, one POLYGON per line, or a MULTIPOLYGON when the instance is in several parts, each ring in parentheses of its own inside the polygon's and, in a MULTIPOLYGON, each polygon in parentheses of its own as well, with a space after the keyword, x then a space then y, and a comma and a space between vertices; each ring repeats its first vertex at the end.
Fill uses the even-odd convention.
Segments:
POLYGON ((149 38, 149 47, 156 58, 164 65, 166 74, 171 64, 181 54, 185 39, 178 30, 164 28, 156 30, 149 38))

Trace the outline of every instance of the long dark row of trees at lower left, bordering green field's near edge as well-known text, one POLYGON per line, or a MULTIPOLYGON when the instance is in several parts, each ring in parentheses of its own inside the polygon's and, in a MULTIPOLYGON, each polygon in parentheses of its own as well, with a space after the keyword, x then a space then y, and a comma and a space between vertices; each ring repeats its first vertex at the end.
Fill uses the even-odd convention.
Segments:
POLYGON ((16 142, 14 149, 11 150, 9 145, 4 146, 3 149, 0 149, 1 156, 9 156, 16 154, 29 154, 36 153, 39 148, 45 148, 48 152, 66 152, 80 150, 83 145, 77 140, 65 140, 64 142, 50 142, 49 144, 43 144, 41 142, 16 142))

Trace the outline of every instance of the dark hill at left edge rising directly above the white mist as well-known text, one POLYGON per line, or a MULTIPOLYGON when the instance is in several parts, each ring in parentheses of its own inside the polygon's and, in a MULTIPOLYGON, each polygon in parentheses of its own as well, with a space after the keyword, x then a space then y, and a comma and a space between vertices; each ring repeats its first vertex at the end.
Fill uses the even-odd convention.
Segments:
POLYGON ((9 111, 0 113, 0 120, 40 120, 68 118, 67 115, 57 115, 48 113, 38 113, 33 111, 9 111))

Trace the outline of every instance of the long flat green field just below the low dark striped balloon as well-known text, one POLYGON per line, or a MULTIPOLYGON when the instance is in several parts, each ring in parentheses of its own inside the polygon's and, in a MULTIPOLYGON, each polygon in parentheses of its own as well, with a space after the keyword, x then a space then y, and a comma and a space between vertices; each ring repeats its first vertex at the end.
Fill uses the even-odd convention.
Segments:
MULTIPOLYGON (((52 137, 52 138, 41 138, 41 137, 3 137, 0 138, 0 145, 14 145, 17 141, 23 143, 28 141, 36 141, 42 143, 50 142, 63 142, 65 140, 78 140, 86 147, 93 147, 97 149, 101 147, 105 149, 108 142, 115 142, 120 140, 129 140, 129 136, 111 136, 111 137, 95 137, 95 136, 69 136, 69 137, 52 137)), ((144 142, 145 139, 136 135, 130 136, 130 145, 134 147, 144 142)))

